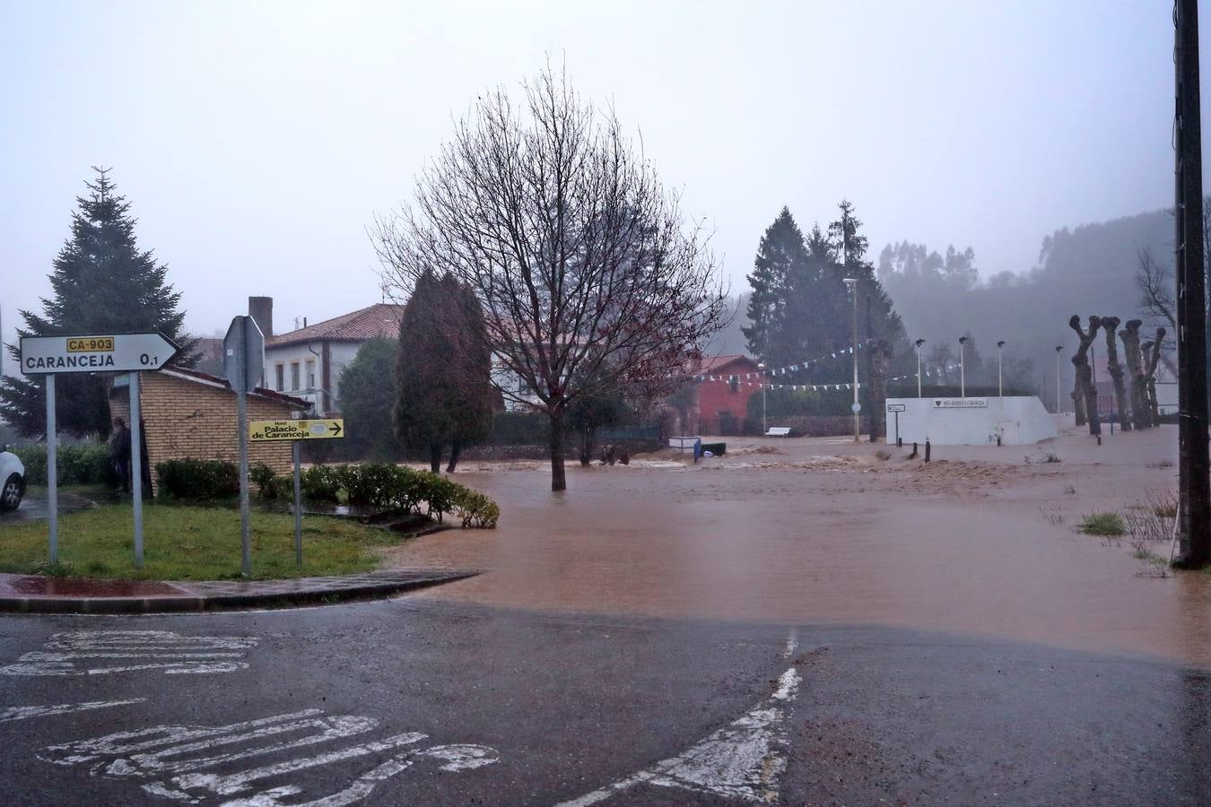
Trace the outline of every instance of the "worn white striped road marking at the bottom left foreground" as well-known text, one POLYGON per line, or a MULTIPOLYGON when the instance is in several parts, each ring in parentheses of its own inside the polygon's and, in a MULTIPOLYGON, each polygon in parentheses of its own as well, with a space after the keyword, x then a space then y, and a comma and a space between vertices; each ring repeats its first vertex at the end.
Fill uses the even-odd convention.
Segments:
POLYGON ((495 749, 486 745, 436 745, 398 751, 427 738, 419 732, 406 732, 240 769, 241 763, 254 757, 281 756, 321 743, 339 743, 378 725, 374 717, 325 715, 320 709, 305 709, 228 726, 167 725, 116 732, 52 745, 39 756, 54 765, 88 765, 92 776, 150 780, 142 785, 149 795, 189 803, 217 799, 230 807, 342 807, 361 801, 380 782, 424 760, 431 760, 438 771, 458 773, 492 765, 499 759, 495 749), (280 779, 384 751, 395 755, 357 776, 345 789, 318 800, 298 801, 303 789, 295 784, 254 790, 254 783, 264 779, 280 779))

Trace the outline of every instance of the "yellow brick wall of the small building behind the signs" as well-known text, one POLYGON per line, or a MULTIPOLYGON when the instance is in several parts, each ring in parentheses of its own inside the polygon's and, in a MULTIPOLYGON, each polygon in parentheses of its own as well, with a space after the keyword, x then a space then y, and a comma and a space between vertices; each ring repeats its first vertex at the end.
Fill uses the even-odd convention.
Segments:
MULTIPOLYGON (((144 442, 148 446, 153 486, 159 484, 155 478, 157 462, 185 459, 239 460, 234 392, 165 373, 144 373, 139 380, 139 403, 147 423, 144 442)), ((128 388, 115 394, 109 402, 111 416, 130 422, 128 402, 128 388)), ((288 404, 248 396, 248 420, 288 420, 289 416, 288 404)), ((264 462, 280 474, 289 473, 289 442, 249 444, 248 465, 258 462, 264 462)))

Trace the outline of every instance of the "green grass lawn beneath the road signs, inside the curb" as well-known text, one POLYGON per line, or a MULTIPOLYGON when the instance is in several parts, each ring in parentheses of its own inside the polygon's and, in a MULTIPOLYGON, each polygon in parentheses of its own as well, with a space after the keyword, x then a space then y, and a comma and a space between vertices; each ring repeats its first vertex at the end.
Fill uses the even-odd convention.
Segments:
MULTIPOLYGON (((237 508, 144 505, 143 569, 134 567, 130 503, 102 505, 59 518, 59 563, 46 560, 46 521, 0 529, 0 572, 107 580, 231 580, 240 577, 237 508)), ((294 565, 294 517, 252 513, 256 580, 349 575, 379 565, 374 547, 400 536, 349 519, 303 519, 303 567, 294 565)))

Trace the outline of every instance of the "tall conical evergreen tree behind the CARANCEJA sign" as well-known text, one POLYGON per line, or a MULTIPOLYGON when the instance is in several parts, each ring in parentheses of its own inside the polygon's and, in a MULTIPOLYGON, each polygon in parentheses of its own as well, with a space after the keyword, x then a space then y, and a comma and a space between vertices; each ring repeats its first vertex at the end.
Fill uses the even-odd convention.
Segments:
MULTIPOLYGON (((180 294, 166 282, 168 267, 134 238, 130 202, 114 192, 108 171, 93 168, 87 196, 76 197, 71 237, 54 259, 50 275, 53 296, 42 299, 42 313, 22 311, 22 336, 114 334, 159 330, 189 353, 180 294)), ((13 358, 19 345, 10 345, 13 358)), ((186 359, 188 361, 188 359, 186 359)), ((183 363, 178 361, 178 363, 183 363)), ((107 437, 110 430, 110 376, 62 374, 56 380, 61 431, 107 437)), ((46 392, 41 377, 5 376, 0 384, 0 416, 27 437, 46 431, 46 392)))

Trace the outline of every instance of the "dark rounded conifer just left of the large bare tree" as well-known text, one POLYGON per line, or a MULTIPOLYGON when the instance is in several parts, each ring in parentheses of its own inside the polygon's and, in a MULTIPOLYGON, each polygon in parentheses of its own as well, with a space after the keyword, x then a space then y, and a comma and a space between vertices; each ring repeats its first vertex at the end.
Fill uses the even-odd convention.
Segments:
POLYGON ((408 449, 429 451, 434 473, 446 445, 452 472, 461 448, 492 428, 492 356, 476 328, 478 301, 453 277, 417 279, 400 318, 395 428, 408 449))

